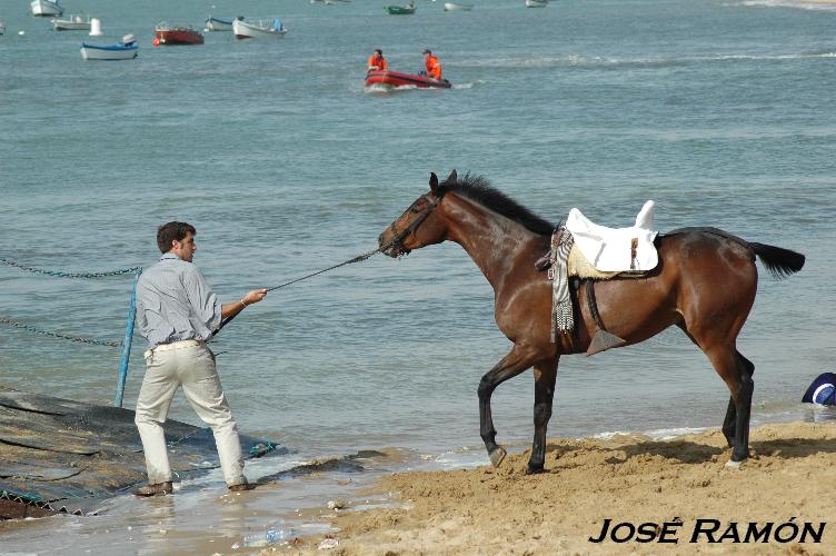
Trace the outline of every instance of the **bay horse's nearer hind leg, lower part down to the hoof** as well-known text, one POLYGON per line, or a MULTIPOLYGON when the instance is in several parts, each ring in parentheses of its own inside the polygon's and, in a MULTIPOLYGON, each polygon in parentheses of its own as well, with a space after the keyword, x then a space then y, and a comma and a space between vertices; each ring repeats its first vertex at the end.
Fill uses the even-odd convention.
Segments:
POLYGON ((704 351, 732 393, 723 434, 732 446, 732 461, 743 461, 749 457, 749 415, 755 389, 752 371, 755 366, 736 349, 723 345, 704 348, 704 351))

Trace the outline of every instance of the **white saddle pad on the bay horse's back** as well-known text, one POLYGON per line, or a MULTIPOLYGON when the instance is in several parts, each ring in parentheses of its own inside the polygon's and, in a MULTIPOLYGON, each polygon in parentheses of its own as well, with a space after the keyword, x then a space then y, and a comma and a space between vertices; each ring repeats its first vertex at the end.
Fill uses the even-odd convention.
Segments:
POLYGON ((659 256, 654 246, 658 231, 651 230, 654 201, 645 202, 629 228, 607 228, 585 217, 573 208, 566 218, 566 228, 575 237, 575 245, 598 270, 605 272, 647 271, 656 268, 659 256), (633 240, 637 240, 633 257, 633 240))

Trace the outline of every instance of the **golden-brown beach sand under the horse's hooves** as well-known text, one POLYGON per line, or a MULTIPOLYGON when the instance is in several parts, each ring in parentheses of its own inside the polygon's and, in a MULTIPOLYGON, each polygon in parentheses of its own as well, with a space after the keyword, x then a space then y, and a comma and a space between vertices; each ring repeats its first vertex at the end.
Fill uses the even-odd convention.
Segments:
MULTIPOLYGON (((639 435, 611 439, 551 439, 546 473, 526 476, 528 454, 506 458, 501 467, 401 473, 382 479, 404 506, 341 510, 339 532, 326 535, 345 555, 414 554, 836 554, 836 423, 773 424, 752 430, 752 458, 726 467, 729 449, 719 430, 655 441, 639 435), (775 530, 795 517, 799 534, 788 543, 775 530), (605 519, 639 526, 683 525, 658 544, 628 540, 600 544, 605 519), (738 524, 740 540, 749 523, 774 523, 769 542, 690 543, 698 519, 715 519, 718 539, 738 524), (812 536, 799 543, 808 522, 812 536)), ((709 524, 710 525, 710 524, 709 524)), ((626 536, 628 527, 618 530, 626 536)), ((780 530, 792 537, 793 528, 780 530)), ((648 535, 649 536, 649 535, 648 535)), ((658 538, 658 537, 657 537, 658 538)), ((300 539, 298 552, 324 554, 324 536, 300 539)))

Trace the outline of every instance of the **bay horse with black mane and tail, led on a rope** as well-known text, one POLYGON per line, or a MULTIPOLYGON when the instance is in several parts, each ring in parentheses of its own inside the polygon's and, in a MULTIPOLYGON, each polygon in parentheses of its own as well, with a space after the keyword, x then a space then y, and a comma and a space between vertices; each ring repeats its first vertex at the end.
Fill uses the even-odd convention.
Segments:
MULTIPOLYGON (((430 175, 420 196, 378 238, 390 257, 441 241, 459 244, 494 288, 494 316, 514 344, 479 381, 480 435, 498 467, 506 450, 496 443, 490 413, 494 390, 534 367, 534 443, 528 474, 541 473, 546 427, 561 355, 586 350, 596 331, 584 288, 577 288, 576 337, 551 341, 551 284, 535 262, 550 247, 555 227, 492 188, 481 177, 456 170, 441 183, 430 175)), ((745 241, 716 228, 681 228, 656 240, 659 262, 641 278, 595 284, 599 318, 607 331, 644 341, 671 325, 681 328, 708 357, 732 396, 723 434, 732 448, 727 465, 749 456, 749 414, 755 366, 736 347, 737 335, 755 302, 756 257, 776 278, 797 272, 805 257, 780 247, 745 241)))

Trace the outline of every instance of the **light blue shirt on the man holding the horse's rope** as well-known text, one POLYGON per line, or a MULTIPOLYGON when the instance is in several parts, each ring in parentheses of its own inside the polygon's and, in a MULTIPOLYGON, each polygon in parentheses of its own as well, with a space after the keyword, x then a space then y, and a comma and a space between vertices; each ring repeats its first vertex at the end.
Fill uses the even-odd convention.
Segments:
POLYGON ((181 340, 208 340, 220 326, 221 304, 203 274, 165 254, 137 282, 139 332, 149 348, 181 340))

